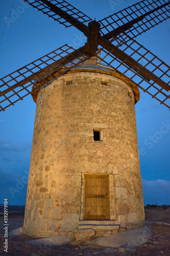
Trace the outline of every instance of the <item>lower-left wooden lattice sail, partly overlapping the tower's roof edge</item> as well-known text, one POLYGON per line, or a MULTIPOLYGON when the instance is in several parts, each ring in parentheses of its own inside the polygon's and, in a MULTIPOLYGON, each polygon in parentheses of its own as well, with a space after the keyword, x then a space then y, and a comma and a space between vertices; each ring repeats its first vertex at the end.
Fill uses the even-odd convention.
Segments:
POLYGON ((57 79, 89 57, 91 56, 86 53, 85 46, 74 50, 64 45, 1 78, 0 88, 3 91, 0 91, 0 112, 5 111, 8 106, 14 105, 17 101, 23 100, 27 95, 33 95, 45 87, 50 80, 57 79))

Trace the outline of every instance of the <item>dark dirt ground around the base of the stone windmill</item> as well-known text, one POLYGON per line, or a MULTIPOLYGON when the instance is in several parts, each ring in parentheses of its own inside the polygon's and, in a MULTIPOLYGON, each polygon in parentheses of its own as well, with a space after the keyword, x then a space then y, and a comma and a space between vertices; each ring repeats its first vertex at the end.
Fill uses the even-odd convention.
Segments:
MULTIPOLYGON (((151 218, 150 218, 151 219, 151 218)), ((132 255, 132 256, 140 256, 140 255, 152 255, 152 256, 169 256, 170 255, 170 225, 165 224, 157 224, 152 222, 151 225, 153 236, 148 241, 148 243, 143 244, 140 247, 137 247, 136 250, 126 251, 126 253, 117 252, 115 249, 111 247, 100 247, 93 246, 87 244, 81 245, 62 245, 62 246, 40 246, 33 245, 28 243, 30 239, 27 236, 19 236, 19 237, 9 237, 8 240, 8 253, 4 252, 3 243, 4 243, 4 230, 2 227, 2 223, 4 221, 3 216, 0 217, 1 222, 1 255, 9 255, 9 256, 47 256, 47 255, 132 255)), ((167 220, 160 220, 163 222, 169 222, 169 218, 167 220)), ((22 226, 23 224, 23 214, 19 215, 13 214, 9 217, 9 231, 22 226)))

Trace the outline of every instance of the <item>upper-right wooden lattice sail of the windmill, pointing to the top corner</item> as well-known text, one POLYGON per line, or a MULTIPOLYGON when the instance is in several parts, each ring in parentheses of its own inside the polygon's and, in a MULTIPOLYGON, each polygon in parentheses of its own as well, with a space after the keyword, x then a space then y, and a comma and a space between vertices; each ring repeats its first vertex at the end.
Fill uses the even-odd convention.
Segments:
POLYGON ((131 37, 136 37, 170 17, 170 1, 143 0, 122 11, 101 19, 101 33, 106 39, 122 30, 131 37), (140 18, 141 17, 141 18, 140 18), (113 33, 112 33, 113 32, 113 33))

